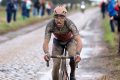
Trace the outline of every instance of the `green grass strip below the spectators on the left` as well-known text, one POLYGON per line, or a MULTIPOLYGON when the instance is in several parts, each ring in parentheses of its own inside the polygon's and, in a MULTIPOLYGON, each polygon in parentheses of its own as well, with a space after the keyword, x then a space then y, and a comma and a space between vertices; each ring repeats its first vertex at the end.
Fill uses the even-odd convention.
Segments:
POLYGON ((35 23, 38 23, 38 22, 42 22, 46 19, 49 19, 49 17, 43 17, 43 18, 39 18, 39 17, 31 17, 29 19, 26 19, 26 20, 23 20, 22 18, 16 22, 11 22, 11 23, 6 23, 6 22, 3 22, 3 23, 0 23, 0 34, 4 34, 4 33, 7 33, 7 32, 10 32, 10 31, 15 31, 15 30, 18 30, 20 28, 23 28, 23 27, 26 27, 28 25, 32 25, 32 24, 35 24, 35 23))

